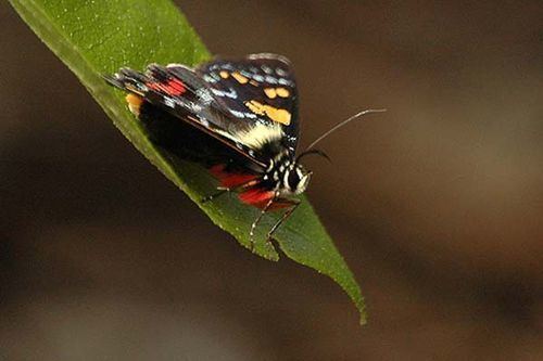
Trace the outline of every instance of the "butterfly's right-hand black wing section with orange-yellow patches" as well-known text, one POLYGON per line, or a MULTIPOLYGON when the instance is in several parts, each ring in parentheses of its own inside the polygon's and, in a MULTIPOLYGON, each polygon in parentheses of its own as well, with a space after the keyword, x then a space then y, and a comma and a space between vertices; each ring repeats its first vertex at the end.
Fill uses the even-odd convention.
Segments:
MULTIPOLYGON (((217 59, 197 68, 209 85, 222 112, 236 118, 236 132, 253 130, 247 141, 257 147, 258 136, 268 129, 282 133, 281 143, 295 153, 299 139, 298 92, 290 62, 280 55, 252 54, 243 60, 217 59), (258 131, 254 131, 258 129, 258 131)), ((251 133, 251 132, 250 132, 251 133)), ((243 137, 242 137, 243 138, 243 137)), ((262 143, 262 142, 261 142, 262 143)))

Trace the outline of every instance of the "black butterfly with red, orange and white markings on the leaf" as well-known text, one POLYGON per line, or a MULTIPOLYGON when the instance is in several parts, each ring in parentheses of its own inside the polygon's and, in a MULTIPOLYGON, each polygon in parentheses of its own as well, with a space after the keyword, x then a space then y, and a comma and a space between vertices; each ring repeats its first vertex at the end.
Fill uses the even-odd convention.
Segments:
POLYGON ((241 60, 215 59, 195 68, 182 64, 150 64, 143 73, 121 68, 105 80, 124 91, 128 107, 148 128, 159 146, 204 165, 218 180, 217 196, 236 192, 264 215, 285 209, 267 232, 277 229, 300 205, 295 196, 307 189, 312 171, 305 155, 328 157, 314 145, 329 133, 367 113, 338 124, 296 154, 300 138, 298 92, 290 61, 261 53, 241 60))

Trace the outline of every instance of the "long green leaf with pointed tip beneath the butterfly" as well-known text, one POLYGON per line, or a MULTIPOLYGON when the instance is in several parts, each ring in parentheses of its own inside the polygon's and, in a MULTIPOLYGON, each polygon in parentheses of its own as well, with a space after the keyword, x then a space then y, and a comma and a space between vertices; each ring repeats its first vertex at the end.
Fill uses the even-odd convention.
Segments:
MULTIPOLYGON (((149 63, 194 65, 210 59, 187 20, 168 0, 10 0, 38 37, 75 73, 123 134, 171 181, 177 184, 218 227, 249 247, 249 227, 258 210, 241 205, 235 195, 213 203, 200 201, 214 190, 201 167, 173 159, 147 138, 127 111, 124 94, 106 86, 102 74, 122 66, 143 69, 149 63)), ((265 233, 277 219, 266 215, 254 252, 277 260, 265 233)), ((343 287, 365 321, 364 301, 353 274, 304 198, 276 233, 282 252, 296 262, 332 278, 343 287)))

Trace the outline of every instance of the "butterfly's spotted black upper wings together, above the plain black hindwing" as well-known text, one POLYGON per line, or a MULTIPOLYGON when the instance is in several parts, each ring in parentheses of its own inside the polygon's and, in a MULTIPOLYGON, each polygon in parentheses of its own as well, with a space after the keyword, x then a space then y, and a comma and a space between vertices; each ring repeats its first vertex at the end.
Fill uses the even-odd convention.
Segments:
POLYGON ((217 60, 197 70, 180 64, 151 64, 146 73, 123 68, 106 80, 200 128, 260 166, 265 167, 273 156, 269 149, 294 154, 295 83, 288 61, 278 55, 217 60))

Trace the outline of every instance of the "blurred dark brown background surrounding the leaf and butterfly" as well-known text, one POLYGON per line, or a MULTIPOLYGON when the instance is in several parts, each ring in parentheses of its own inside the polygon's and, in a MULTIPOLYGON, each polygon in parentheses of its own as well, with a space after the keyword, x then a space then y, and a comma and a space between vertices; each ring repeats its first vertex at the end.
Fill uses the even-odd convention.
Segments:
POLYGON ((177 1, 295 65, 311 198, 366 296, 252 256, 0 3, 0 359, 543 360, 541 1, 177 1))

